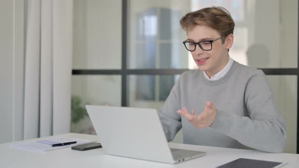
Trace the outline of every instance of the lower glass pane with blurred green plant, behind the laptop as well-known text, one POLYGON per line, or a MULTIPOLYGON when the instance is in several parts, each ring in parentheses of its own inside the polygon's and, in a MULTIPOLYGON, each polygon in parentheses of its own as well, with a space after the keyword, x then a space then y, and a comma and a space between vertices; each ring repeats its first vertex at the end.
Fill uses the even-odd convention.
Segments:
POLYGON ((120 75, 76 75, 71 87, 71 132, 95 134, 85 105, 121 106, 120 75))

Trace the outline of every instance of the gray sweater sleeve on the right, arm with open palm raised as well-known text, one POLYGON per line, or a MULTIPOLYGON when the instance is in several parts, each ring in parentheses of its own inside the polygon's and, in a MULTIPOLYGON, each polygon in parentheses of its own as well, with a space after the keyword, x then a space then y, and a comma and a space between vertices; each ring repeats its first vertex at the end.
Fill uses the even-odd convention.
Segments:
POLYGON ((253 149, 280 153, 284 150, 286 131, 272 96, 266 75, 259 70, 247 82, 244 108, 249 116, 217 109, 217 115, 210 126, 253 149))

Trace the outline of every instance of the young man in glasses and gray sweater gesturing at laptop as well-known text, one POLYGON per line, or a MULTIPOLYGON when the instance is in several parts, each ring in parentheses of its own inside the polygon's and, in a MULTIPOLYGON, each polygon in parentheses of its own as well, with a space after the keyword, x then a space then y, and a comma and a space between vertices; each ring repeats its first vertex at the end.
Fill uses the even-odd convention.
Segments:
POLYGON ((180 20, 199 70, 181 74, 159 116, 168 141, 182 128, 185 144, 283 152, 286 131, 261 70, 229 56, 235 23, 221 7, 180 20))

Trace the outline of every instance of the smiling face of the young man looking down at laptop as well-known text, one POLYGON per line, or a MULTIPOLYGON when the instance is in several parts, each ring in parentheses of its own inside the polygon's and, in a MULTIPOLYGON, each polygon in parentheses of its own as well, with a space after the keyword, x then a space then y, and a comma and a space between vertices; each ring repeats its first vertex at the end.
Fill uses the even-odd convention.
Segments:
MULTIPOLYGON (((188 41, 196 43, 203 40, 213 40, 221 36, 215 29, 204 25, 195 25, 189 28, 187 35, 188 41)), ((196 45, 196 50, 191 52, 198 68, 205 71, 209 77, 221 71, 228 63, 228 49, 231 46, 228 46, 227 41, 222 44, 223 38, 214 41, 210 51, 204 51, 196 45)))

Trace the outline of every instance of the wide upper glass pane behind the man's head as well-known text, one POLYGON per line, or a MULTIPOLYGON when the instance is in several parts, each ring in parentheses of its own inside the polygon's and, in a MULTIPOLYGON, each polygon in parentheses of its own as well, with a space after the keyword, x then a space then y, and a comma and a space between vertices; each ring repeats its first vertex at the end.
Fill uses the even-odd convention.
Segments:
POLYGON ((211 6, 225 7, 235 21, 234 60, 256 68, 297 67, 298 2, 281 0, 130 0, 128 67, 197 68, 183 47, 179 20, 211 6))

